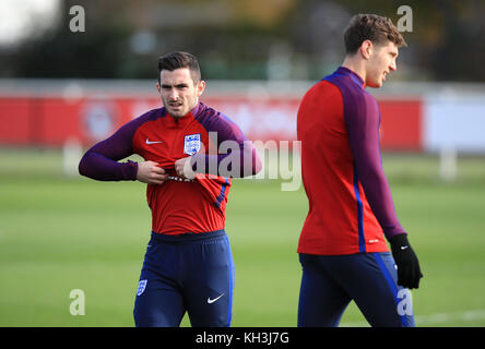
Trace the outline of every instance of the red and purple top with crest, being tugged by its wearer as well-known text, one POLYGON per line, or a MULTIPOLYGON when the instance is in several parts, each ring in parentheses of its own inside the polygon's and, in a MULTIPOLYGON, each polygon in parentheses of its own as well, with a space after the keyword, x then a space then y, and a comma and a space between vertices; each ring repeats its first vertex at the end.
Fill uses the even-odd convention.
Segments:
MULTIPOLYGON (((237 142, 241 149, 248 143, 252 147, 233 121, 202 103, 181 118, 171 117, 165 108, 153 109, 91 147, 81 159, 79 171, 102 181, 135 180, 138 164, 119 160, 138 154, 144 160, 158 163, 174 180, 158 185, 149 184, 146 188, 146 200, 152 210, 152 230, 164 234, 216 231, 225 226, 230 178, 220 173, 197 173, 194 180, 181 180, 177 178, 174 164, 199 151, 211 147, 218 149, 218 145, 228 140, 237 142), (215 132, 216 141, 210 137, 210 132, 215 132)), ((237 155, 235 153, 232 156, 237 155)), ((225 156, 215 155, 217 164, 225 156)), ((259 161, 256 148, 252 147, 249 174, 258 171, 259 161)))

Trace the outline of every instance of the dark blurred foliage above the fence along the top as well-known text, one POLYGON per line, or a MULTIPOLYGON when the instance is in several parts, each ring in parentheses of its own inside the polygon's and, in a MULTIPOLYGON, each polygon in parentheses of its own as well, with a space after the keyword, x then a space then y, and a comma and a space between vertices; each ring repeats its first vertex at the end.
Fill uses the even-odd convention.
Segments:
POLYGON ((0 41, 0 77, 155 79, 157 57, 188 50, 208 80, 316 80, 341 63, 353 14, 397 24, 406 4, 413 32, 395 80, 485 81, 483 0, 48 0, 23 19, 5 3, 3 27, 29 29, 0 41), (84 33, 69 29, 72 5, 85 9, 84 33))

